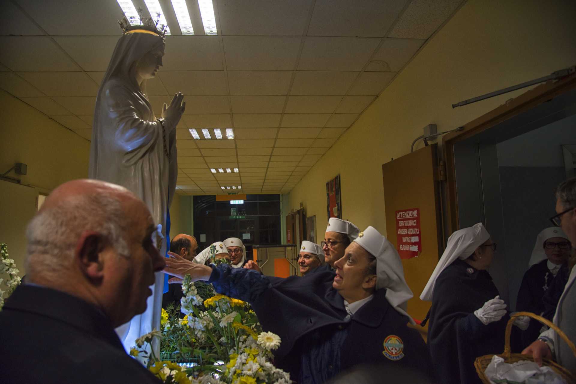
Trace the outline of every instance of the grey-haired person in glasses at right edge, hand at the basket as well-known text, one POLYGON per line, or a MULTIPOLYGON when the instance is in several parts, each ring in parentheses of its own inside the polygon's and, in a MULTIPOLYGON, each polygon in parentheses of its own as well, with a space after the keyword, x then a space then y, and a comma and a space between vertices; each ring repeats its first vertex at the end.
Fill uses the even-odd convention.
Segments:
MULTIPOLYGON (((550 219, 556 226, 561 226, 568 236, 572 247, 576 247, 576 178, 560 183, 556 189, 556 215, 550 219)), ((570 277, 560 296, 554 324, 558 325, 570 340, 576 340, 576 268, 572 268, 570 277)), ((556 361, 571 372, 576 372, 576 358, 570 347, 560 340, 554 329, 540 334, 538 340, 528 346, 522 354, 532 355, 535 362, 541 364, 542 358, 556 358, 556 361)))

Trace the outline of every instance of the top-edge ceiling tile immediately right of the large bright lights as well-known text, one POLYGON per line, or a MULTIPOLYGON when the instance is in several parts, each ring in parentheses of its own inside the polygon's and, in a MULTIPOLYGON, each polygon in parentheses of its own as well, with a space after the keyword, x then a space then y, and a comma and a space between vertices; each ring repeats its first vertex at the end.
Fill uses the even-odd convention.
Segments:
POLYGON ((310 0, 220 1, 222 34, 298 36, 308 22, 310 3, 310 0))

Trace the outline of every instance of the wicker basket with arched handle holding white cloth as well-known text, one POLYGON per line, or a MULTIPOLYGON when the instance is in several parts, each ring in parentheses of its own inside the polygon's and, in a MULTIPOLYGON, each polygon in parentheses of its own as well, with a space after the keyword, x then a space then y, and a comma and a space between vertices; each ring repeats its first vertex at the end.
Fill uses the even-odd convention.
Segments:
MULTIPOLYGON (((531 312, 516 312, 512 316, 510 316, 510 320, 508 320, 508 324, 506 325, 506 334, 505 334, 506 340, 505 340, 505 345, 504 345, 504 352, 503 352, 503 354, 498 355, 501 358, 503 358, 506 363, 512 364, 512 363, 520 362, 522 360, 529 360, 532 362, 534 361, 534 359, 530 355, 510 353, 510 333, 512 331, 512 325, 514 324, 514 320, 516 320, 516 317, 518 317, 518 316, 528 316, 528 317, 534 318, 534 319, 540 321, 542 324, 548 325, 548 327, 554 329, 554 331, 556 331, 556 333, 558 333, 558 336, 560 336, 562 338, 562 340, 564 340, 566 342, 566 344, 568 344, 568 346, 572 350, 574 356, 576 356, 576 347, 574 347, 574 343, 572 341, 570 341, 570 339, 566 336, 566 333, 560 331, 560 328, 558 328, 558 327, 556 327, 556 325, 552 324, 551 321, 548 321, 544 317, 538 316, 537 314, 533 314, 531 312)), ((488 367, 488 364, 490 364, 490 362, 492 360, 492 356, 494 356, 494 355, 480 356, 479 358, 476 358, 476 361, 474 362, 474 366, 476 367, 476 372, 478 373, 478 376, 480 377, 480 379, 482 380, 482 382, 484 384, 490 384, 490 380, 488 380, 488 378, 484 374, 484 371, 486 370, 486 367, 488 367)), ((576 377, 569 370, 560 366, 559 364, 557 364, 553 360, 542 359, 542 365, 551 367, 556 373, 558 373, 560 376, 562 376, 564 381, 566 381, 567 383, 576 383, 576 377)))

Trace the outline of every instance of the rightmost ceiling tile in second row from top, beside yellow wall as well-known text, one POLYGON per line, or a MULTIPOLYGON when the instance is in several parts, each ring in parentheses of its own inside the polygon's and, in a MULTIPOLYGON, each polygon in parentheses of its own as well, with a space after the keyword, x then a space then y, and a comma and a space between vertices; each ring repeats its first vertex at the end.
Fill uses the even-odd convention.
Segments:
POLYGON ((366 71, 400 71, 425 41, 419 39, 384 39, 366 67, 366 71))

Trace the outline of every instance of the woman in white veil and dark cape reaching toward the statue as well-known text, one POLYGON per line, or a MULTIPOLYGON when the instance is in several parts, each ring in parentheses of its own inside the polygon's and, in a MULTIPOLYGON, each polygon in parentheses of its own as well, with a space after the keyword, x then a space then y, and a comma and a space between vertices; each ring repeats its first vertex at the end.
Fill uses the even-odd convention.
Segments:
POLYGON ((393 245, 369 226, 334 263, 336 272, 271 278, 228 265, 166 260, 166 272, 207 280, 218 293, 248 301, 265 331, 282 343, 275 362, 298 383, 323 383, 357 364, 431 374, 419 333, 407 327, 412 293, 393 245))

